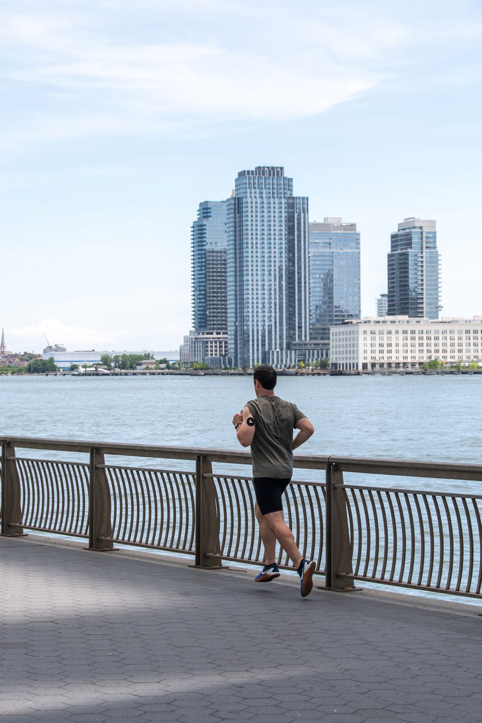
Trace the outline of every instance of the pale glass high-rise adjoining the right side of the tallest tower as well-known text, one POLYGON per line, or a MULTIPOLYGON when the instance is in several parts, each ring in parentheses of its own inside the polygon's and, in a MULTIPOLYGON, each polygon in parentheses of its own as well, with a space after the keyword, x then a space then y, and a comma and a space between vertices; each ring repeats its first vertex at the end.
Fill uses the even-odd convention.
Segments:
POLYGON ((330 326, 361 315, 360 233, 356 223, 309 224, 310 338, 330 341, 330 326))

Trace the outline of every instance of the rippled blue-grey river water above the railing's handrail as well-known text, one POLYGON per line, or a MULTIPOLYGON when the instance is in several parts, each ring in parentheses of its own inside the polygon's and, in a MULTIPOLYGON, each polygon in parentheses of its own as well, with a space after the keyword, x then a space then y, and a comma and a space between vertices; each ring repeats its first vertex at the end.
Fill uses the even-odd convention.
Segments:
MULTIPOLYGON (((314 454, 481 463, 482 376, 280 377, 314 454)), ((249 377, 0 376, 0 433, 238 448, 249 377)))

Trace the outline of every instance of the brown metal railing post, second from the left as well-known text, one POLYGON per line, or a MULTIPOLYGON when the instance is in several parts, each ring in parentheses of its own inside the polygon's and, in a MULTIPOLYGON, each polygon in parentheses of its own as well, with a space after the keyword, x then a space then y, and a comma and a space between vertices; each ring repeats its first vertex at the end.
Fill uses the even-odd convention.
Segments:
POLYGON ((108 488, 104 455, 90 449, 89 458, 89 549, 114 549, 111 542, 111 492, 108 488))

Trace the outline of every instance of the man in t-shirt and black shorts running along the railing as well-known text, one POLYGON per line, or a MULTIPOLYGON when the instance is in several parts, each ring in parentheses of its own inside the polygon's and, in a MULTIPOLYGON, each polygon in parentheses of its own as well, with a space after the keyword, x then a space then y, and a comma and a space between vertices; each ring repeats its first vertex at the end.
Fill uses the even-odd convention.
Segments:
POLYGON ((273 367, 257 367, 253 375, 257 398, 233 416, 238 442, 243 447, 251 445, 253 458, 254 513, 264 545, 264 568, 254 579, 267 583, 280 576, 275 557, 277 540, 293 560, 300 576, 301 596, 306 597, 313 587, 316 562, 306 560, 296 547, 283 515, 283 492, 293 474, 293 450, 311 437, 314 427, 296 404, 275 396, 276 376, 273 367), (293 429, 299 429, 294 440, 293 429))

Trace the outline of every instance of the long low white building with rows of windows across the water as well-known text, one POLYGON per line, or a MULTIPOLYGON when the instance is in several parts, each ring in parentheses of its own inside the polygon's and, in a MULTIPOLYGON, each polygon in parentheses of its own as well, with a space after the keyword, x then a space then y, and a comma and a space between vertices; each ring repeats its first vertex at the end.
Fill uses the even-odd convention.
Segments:
POLYGON ((439 359, 447 367, 482 366, 482 316, 350 319, 330 327, 330 367, 343 371, 418 369, 439 359))

